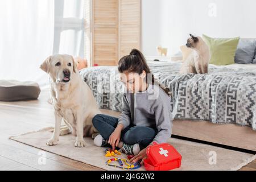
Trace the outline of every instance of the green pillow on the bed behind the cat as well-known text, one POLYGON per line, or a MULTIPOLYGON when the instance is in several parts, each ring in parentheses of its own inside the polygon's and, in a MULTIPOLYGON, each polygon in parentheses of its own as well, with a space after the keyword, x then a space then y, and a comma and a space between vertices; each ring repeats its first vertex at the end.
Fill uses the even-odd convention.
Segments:
POLYGON ((228 65, 234 64, 237 45, 240 37, 237 38, 209 38, 203 35, 205 43, 210 48, 210 64, 228 65))

